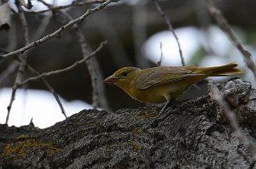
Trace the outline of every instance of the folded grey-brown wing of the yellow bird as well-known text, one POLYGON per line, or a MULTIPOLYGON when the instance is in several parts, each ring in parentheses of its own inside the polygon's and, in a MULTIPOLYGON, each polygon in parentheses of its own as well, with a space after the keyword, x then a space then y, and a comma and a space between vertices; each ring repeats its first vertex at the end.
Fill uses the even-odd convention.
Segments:
MULTIPOLYGON (((190 67, 191 68, 191 67, 190 67)), ((145 89, 167 82, 175 82, 187 79, 191 76, 201 76, 202 74, 193 73, 193 69, 186 67, 160 66, 142 70, 137 78, 137 88, 145 89)))

